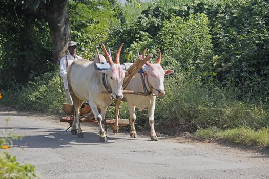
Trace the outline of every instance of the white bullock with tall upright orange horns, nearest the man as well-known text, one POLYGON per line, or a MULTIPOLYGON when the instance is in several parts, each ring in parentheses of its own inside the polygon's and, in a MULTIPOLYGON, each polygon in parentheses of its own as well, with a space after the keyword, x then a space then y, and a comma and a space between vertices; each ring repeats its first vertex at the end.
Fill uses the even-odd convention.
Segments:
POLYGON ((127 73, 122 70, 119 64, 119 55, 122 46, 123 44, 118 49, 114 64, 104 44, 102 44, 106 58, 110 63, 110 69, 102 71, 95 70, 94 62, 85 59, 75 60, 70 65, 67 78, 75 111, 71 132, 73 135, 77 134, 78 138, 84 137, 79 122, 79 109, 84 101, 89 101, 94 117, 98 121, 99 139, 102 142, 107 141, 102 122, 104 122, 107 108, 112 102, 111 96, 114 99, 121 99, 123 97, 122 83, 125 73, 127 73), (103 78, 103 74, 105 78, 103 78), (107 89, 111 91, 111 94, 101 93, 106 90, 103 80, 107 83, 107 89), (99 114, 97 107, 101 109, 101 114, 99 114), (76 123, 78 128, 76 127, 76 123))

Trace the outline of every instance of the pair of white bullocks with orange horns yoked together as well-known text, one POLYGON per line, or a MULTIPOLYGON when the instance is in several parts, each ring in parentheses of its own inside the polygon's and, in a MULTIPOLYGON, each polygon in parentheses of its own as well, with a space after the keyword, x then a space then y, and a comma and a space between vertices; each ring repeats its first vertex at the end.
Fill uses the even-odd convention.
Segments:
MULTIPOLYGON (((80 127, 79 122, 79 110, 84 101, 89 101, 89 105, 94 114, 95 119, 98 121, 99 125, 99 139, 102 142, 107 141, 107 137, 105 135, 104 128, 102 127, 102 121, 105 120, 105 115, 108 106, 112 103, 112 97, 117 100, 116 109, 119 109, 120 101, 124 97, 124 101, 127 102, 128 110, 130 113, 130 122, 131 122, 131 130, 130 136, 136 137, 136 131, 134 127, 135 122, 135 107, 142 110, 148 107, 148 116, 149 123, 151 126, 151 139, 158 140, 155 130, 154 130, 154 109, 155 109, 155 101, 156 95, 163 96, 164 92, 164 75, 169 75, 172 73, 172 70, 163 70, 160 62, 161 62, 161 54, 159 51, 159 58, 156 64, 146 63, 147 68, 143 68, 143 73, 146 75, 146 87, 149 91, 152 92, 150 96, 139 96, 133 94, 123 94, 123 79, 125 75, 127 75, 127 71, 122 70, 121 65, 119 63, 120 51, 123 44, 119 47, 116 54, 115 63, 112 61, 110 55, 108 54, 105 46, 102 44, 102 48, 104 49, 107 61, 110 64, 110 68, 107 70, 95 70, 94 63, 96 62, 104 62, 104 56, 100 55, 100 61, 89 61, 86 59, 75 60, 71 65, 67 73, 68 78, 68 87, 70 91, 70 95, 73 100, 74 105, 74 121, 72 124, 71 133, 73 135, 77 135, 78 138, 83 138, 83 133, 80 127), (106 90, 105 86, 102 83, 103 75, 106 76, 105 80, 108 84, 108 88, 111 91, 111 94, 102 93, 102 91, 106 90), (101 110, 100 113, 97 107, 101 110)), ((143 58, 144 58, 143 52, 143 58)), ((129 64, 130 65, 130 64, 129 64)), ((126 86, 126 89, 131 89, 133 91, 141 92, 143 91, 143 85, 141 82, 141 77, 139 74, 136 74, 134 78, 126 86)), ((113 127, 113 131, 118 131, 118 114, 119 110, 116 110, 116 122, 113 127)))

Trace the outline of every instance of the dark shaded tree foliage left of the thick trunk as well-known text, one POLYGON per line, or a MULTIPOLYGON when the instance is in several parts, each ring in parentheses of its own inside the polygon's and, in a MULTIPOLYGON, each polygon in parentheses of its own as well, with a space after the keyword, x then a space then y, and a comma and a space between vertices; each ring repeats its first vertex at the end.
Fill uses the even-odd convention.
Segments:
POLYGON ((40 10, 25 10, 14 1, 1 1, 0 86, 27 83, 53 69, 48 24, 40 10))

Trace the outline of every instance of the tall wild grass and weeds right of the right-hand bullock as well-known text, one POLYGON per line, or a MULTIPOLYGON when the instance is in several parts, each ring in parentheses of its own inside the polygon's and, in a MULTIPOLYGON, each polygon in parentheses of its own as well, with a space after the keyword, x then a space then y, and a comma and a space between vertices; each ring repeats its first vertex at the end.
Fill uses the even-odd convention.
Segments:
POLYGON ((165 96, 157 98, 155 119, 160 130, 169 128, 171 133, 211 126, 257 130, 269 125, 268 106, 244 103, 236 95, 228 88, 214 86, 210 80, 205 83, 184 75, 170 77, 165 79, 165 96))

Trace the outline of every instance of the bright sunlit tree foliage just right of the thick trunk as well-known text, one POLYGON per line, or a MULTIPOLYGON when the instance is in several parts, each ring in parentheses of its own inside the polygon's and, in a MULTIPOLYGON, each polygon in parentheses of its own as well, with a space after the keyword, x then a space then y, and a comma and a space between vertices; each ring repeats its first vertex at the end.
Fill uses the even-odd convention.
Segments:
POLYGON ((107 39, 111 24, 118 24, 107 0, 77 3, 69 1, 67 11, 70 16, 71 37, 78 42, 78 54, 91 59, 96 54, 96 46, 107 39))

